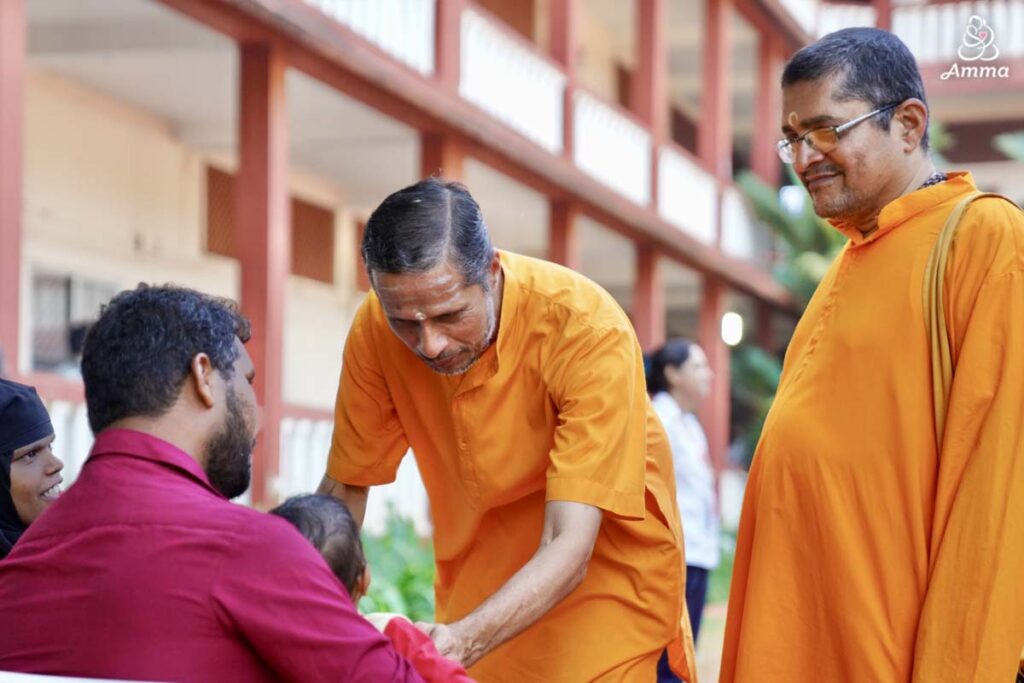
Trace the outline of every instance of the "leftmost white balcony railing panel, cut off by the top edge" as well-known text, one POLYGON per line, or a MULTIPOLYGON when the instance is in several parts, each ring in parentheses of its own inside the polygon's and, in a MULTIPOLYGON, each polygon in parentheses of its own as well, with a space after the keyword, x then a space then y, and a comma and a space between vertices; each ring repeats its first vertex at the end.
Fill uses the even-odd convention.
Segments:
POLYGON ((434 73, 434 0, 305 0, 399 61, 434 73))

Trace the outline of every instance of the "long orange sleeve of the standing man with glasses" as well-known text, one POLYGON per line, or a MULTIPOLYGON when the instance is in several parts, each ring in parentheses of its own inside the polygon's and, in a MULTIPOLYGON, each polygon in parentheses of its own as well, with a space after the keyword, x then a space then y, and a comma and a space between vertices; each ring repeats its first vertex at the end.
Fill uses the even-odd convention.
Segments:
POLYGON ((914 683, 1012 681, 1024 644, 1024 219, 983 203, 947 276, 955 371, 914 683))

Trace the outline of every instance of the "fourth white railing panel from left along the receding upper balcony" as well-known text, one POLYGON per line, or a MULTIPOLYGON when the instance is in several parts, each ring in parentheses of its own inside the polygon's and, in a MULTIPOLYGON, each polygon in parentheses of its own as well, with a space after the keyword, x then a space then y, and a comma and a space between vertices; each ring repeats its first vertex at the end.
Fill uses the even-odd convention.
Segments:
POLYGON ((708 245, 715 244, 718 183, 686 156, 662 147, 657 157, 657 212, 708 245))

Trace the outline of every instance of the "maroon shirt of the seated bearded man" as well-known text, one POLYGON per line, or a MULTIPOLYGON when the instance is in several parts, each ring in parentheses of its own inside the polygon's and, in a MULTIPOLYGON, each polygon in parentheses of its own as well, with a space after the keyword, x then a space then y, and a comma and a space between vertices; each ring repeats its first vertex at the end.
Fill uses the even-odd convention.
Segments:
POLYGON ((108 430, 0 561, 0 670, 160 681, 421 681, 284 519, 161 439, 108 430))

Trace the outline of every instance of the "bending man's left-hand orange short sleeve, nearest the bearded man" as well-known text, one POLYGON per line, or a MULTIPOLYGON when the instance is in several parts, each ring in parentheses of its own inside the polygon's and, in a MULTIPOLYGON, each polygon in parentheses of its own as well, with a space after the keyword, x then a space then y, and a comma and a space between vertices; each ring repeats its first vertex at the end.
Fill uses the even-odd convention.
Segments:
POLYGON ((356 486, 394 481, 409 450, 374 345, 373 299, 359 306, 345 342, 327 464, 328 476, 356 486))

